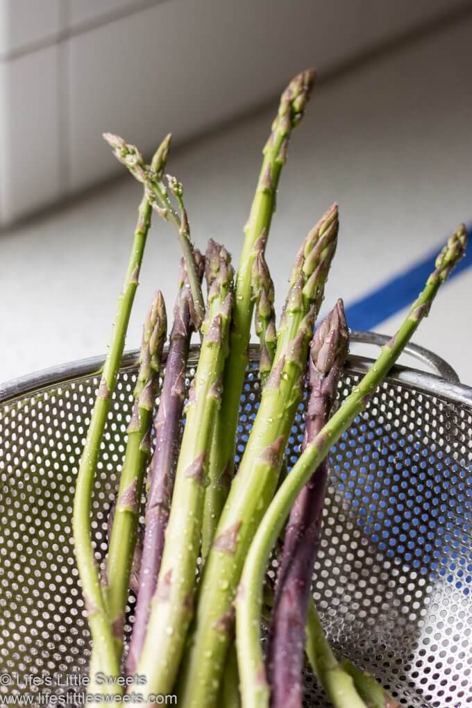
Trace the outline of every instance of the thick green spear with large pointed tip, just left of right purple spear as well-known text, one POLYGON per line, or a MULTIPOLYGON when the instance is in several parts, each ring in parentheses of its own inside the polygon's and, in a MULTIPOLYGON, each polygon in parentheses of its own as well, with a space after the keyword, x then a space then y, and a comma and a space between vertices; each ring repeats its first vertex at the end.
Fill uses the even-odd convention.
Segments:
POLYGON ((294 263, 272 371, 203 571, 195 632, 180 681, 185 708, 209 708, 217 701, 231 603, 249 544, 275 491, 337 234, 338 207, 333 205, 306 237, 294 263))

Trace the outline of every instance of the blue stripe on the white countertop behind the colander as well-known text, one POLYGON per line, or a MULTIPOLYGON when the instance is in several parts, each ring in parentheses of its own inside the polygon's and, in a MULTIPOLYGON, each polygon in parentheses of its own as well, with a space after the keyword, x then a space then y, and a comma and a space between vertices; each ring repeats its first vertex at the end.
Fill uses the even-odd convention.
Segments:
MULTIPOLYGON (((467 229, 469 238, 472 235, 472 227, 467 229)), ((430 253, 413 268, 405 270, 400 275, 396 275, 391 280, 372 290, 364 297, 352 302, 345 308, 347 324, 351 329, 369 330, 375 329, 378 324, 388 319, 404 307, 408 307, 422 290, 428 275, 434 270, 434 261, 438 249, 430 253)), ((472 265, 472 244, 469 244, 466 255, 454 268, 451 278, 456 278, 459 273, 472 265)))

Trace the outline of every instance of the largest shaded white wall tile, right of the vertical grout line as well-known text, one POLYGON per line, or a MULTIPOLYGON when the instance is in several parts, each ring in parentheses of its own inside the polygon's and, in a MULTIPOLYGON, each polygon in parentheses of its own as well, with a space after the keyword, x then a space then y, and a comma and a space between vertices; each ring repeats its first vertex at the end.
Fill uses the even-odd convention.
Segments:
POLYGON ((398 0, 395 8, 383 0, 173 0, 73 37, 69 187, 122 169, 103 146, 104 130, 148 153, 166 132, 177 142, 188 139, 272 97, 299 69, 316 65, 323 72, 441 6, 442 0, 398 0))

